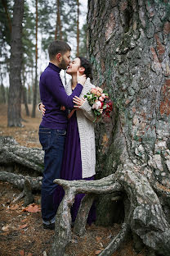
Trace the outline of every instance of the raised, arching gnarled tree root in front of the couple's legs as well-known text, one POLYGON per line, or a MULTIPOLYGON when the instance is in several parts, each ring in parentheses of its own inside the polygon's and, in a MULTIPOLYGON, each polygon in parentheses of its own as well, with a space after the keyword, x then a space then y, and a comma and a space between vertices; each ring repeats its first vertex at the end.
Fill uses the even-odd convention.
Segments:
MULTIPOLYGON (((74 203, 74 196, 78 193, 87 194, 103 194, 111 193, 114 191, 121 191, 123 189, 122 185, 114 180, 114 177, 108 176, 99 181, 64 181, 56 179, 59 185, 62 185, 65 189, 65 197, 61 201, 58 211, 56 213, 56 230, 55 239, 51 247, 51 256, 63 256, 65 254, 65 247, 71 240, 71 214, 70 208, 74 203)), ((92 197, 93 199, 93 197, 92 197)), ((92 199, 89 196, 83 199, 83 205, 87 207, 80 207, 78 218, 75 221, 74 231, 78 235, 83 235, 85 232, 85 220, 87 219, 87 212, 92 205, 92 199), (82 226, 79 225, 80 221, 83 220, 82 226), (80 231, 78 231, 80 228, 80 231)))

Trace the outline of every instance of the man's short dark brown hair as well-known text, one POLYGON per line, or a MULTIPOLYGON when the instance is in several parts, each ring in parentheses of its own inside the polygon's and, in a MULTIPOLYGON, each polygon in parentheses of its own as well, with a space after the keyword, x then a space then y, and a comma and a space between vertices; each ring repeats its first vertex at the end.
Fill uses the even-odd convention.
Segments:
POLYGON ((57 53, 65 54, 68 51, 71 51, 69 44, 61 40, 51 42, 48 47, 48 53, 51 61, 54 59, 57 53))

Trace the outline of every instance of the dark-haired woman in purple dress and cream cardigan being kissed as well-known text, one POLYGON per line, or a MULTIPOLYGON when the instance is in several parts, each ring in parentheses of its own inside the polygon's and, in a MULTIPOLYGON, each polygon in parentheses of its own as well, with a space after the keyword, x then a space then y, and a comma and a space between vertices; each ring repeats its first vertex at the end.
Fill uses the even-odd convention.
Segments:
MULTIPOLYGON (((85 85, 83 86, 80 97, 74 98, 74 110, 69 113, 69 121, 67 134, 65 139, 65 152, 63 156, 63 164, 61 168, 60 178, 68 181, 73 180, 94 180, 96 165, 96 149, 95 149, 95 133, 94 133, 94 115, 92 107, 83 98, 92 88, 90 78, 92 78, 92 66, 84 57, 76 57, 69 64, 67 74, 72 75, 72 80, 65 87, 66 93, 72 94, 77 85, 77 72, 87 76, 85 85)), ((42 113, 45 106, 40 105, 42 113)), ((60 201, 64 196, 64 190, 57 186, 54 202, 58 208, 60 201)), ((72 221, 78 213, 78 207, 83 199, 84 194, 75 196, 74 205, 71 208, 72 221)), ((87 222, 91 224, 95 221, 94 205, 91 208, 87 222)))

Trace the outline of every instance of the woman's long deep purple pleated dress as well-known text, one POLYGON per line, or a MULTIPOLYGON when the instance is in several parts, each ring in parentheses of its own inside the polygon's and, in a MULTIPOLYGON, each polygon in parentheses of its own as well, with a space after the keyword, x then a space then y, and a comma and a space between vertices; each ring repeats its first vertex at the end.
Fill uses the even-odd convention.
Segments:
MULTIPOLYGON (((86 132, 86 131, 84 131, 86 132)), ((76 111, 69 119, 69 123, 67 126, 67 134, 65 138, 65 151, 63 156, 63 163, 61 168, 60 178, 67 181, 74 180, 86 180, 92 181, 94 180, 94 176, 89 178, 82 178, 82 160, 81 160, 81 149, 80 149, 80 138, 78 132, 78 123, 76 117, 76 111)), ((60 185, 57 185, 56 191, 54 193, 54 203, 56 209, 59 207, 61 200, 65 191, 60 185)), ((75 221, 76 215, 78 213, 78 208, 85 194, 76 194, 74 199, 74 204, 71 208, 71 216, 72 222, 75 221)), ((87 223, 91 224, 96 220, 96 210, 94 203, 92 204, 92 208, 88 214, 87 223)))

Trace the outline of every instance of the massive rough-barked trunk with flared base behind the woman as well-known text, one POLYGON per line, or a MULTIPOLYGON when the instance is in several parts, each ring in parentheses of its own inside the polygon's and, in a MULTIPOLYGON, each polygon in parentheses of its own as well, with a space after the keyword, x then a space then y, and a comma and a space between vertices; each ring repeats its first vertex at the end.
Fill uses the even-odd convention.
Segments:
MULTIPOLYGON (((132 199, 132 232, 168 255, 170 2, 89 0, 88 7, 94 78, 114 102, 110 121, 96 126, 97 177, 118 177, 132 199)), ((97 223, 106 208, 110 215, 110 197, 101 199, 97 223)))

